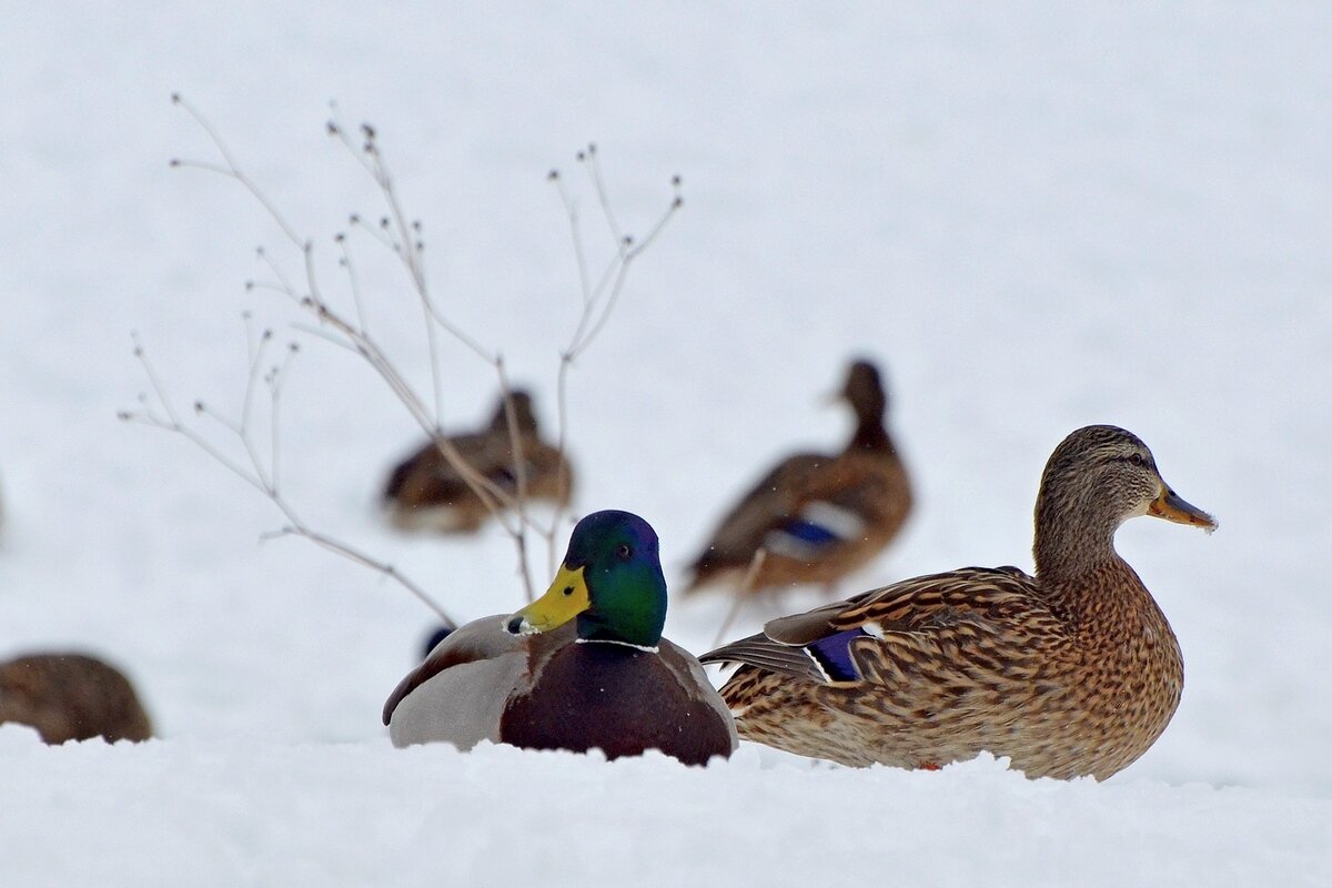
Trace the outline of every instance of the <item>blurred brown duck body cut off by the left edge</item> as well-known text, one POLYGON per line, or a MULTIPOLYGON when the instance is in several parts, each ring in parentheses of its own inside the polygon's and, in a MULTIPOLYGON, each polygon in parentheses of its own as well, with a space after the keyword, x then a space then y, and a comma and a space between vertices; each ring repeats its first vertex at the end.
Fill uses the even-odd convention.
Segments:
POLYGON ((29 724, 52 744, 152 736, 152 723, 129 679, 84 654, 29 654, 0 663, 3 722, 29 724))

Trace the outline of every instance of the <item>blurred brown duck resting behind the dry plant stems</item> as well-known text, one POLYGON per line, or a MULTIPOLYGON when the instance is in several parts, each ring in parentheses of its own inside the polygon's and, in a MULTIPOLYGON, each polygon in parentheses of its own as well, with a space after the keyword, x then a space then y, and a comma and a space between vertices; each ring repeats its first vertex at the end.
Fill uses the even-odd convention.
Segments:
MULTIPOLYGON (((531 395, 521 390, 511 391, 509 405, 513 407, 514 431, 522 453, 527 498, 567 505, 573 474, 563 454, 541 439, 531 395)), ((490 425, 481 431, 452 435, 448 441, 490 483, 517 494, 513 437, 505 401, 500 398, 490 425)), ((490 515, 486 505, 449 465, 433 441, 428 441, 393 470, 384 487, 384 505, 389 519, 402 530, 474 533, 490 515)))

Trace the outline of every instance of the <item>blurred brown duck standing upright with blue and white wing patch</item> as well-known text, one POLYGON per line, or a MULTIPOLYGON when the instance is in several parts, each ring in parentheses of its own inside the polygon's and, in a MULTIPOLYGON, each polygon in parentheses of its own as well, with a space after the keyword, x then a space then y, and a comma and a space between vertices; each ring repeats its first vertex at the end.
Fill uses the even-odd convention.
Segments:
POLYGON ((846 449, 797 454, 765 475, 722 519, 694 560, 686 591, 742 578, 751 592, 831 587, 892 542, 911 511, 911 485, 883 427, 879 371, 868 361, 854 362, 839 395, 856 418, 846 449))

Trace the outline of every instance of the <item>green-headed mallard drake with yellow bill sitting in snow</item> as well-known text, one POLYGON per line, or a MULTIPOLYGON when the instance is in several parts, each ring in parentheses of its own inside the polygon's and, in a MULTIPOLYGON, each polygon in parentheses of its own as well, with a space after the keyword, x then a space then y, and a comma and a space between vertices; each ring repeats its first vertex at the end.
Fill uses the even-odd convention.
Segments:
POLYGON ((661 750, 685 764, 729 756, 735 724, 694 656, 665 638, 657 534, 599 511, 574 527, 550 590, 511 616, 450 634, 393 691, 398 747, 481 740, 533 750, 661 750))

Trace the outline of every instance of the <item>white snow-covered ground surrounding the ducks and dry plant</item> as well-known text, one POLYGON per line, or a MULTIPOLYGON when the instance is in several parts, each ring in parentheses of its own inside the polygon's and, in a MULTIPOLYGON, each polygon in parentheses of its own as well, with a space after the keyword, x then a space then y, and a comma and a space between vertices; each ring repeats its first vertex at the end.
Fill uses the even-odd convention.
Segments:
MULTIPOLYGON (((0 730, 0 884, 1332 883, 1329 43, 1319 4, 8 11, 0 655, 107 655, 163 739, 0 730), (115 418, 147 390, 131 330, 181 405, 232 414, 241 312, 298 335, 242 288, 265 277, 258 244, 298 270, 272 222, 168 168, 213 160, 174 91, 316 238, 330 286, 330 238, 374 194, 324 133, 328 101, 373 121, 437 297, 547 422, 578 285, 546 172, 577 181, 595 140, 639 233, 682 174, 683 212, 570 382, 577 506, 646 517, 673 574, 762 466, 838 445, 846 418, 819 398, 852 354, 888 367, 920 507, 847 592, 1030 567, 1054 445, 1134 430, 1221 522, 1119 535, 1184 648, 1175 722, 1100 785, 992 760, 392 750, 380 706, 428 611, 300 541, 258 546, 269 503, 115 418)), ((372 325, 426 385, 401 273, 356 249, 372 325)), ((442 366, 450 425, 478 421, 489 370, 457 346, 442 366)), ((304 338, 284 415, 312 523, 462 618, 521 603, 494 529, 381 526, 376 489, 417 433, 354 358, 304 338)), ((726 607, 678 603, 667 634, 705 648, 726 607)))

